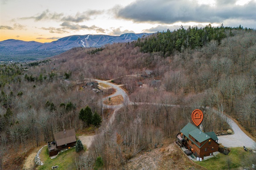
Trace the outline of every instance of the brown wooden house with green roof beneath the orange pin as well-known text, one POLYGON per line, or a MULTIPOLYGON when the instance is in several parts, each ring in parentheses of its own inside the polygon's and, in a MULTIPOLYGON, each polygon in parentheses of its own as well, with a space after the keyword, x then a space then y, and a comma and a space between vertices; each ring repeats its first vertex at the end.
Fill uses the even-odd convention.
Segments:
POLYGON ((214 132, 199 130, 188 123, 176 136, 180 146, 188 148, 196 157, 204 159, 204 156, 211 156, 218 151, 218 137, 214 132))

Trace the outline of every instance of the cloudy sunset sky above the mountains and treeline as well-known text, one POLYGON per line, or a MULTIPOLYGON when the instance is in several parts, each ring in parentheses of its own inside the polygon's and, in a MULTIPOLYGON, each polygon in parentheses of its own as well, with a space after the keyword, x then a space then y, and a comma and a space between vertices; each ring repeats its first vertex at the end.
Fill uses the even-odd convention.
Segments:
POLYGON ((209 23, 256 29, 256 0, 0 0, 0 41, 52 42, 209 23))

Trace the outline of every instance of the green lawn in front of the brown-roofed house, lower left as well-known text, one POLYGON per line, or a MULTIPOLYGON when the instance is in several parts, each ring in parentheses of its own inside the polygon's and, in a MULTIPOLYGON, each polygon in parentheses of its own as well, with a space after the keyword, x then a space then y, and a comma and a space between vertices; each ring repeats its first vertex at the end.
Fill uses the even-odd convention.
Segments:
POLYGON ((79 153, 76 153, 76 148, 72 148, 58 154, 55 159, 50 159, 48 147, 44 147, 40 154, 43 165, 38 166, 37 170, 51 170, 52 166, 58 165, 59 170, 76 170, 75 158, 78 158, 79 153))

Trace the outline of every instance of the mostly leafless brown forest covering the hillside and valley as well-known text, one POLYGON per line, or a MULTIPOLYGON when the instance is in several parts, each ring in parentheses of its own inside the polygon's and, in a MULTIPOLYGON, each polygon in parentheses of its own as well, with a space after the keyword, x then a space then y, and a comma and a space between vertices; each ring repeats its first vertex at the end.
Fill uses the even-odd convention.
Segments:
POLYGON ((52 140, 55 132, 94 126, 79 119, 79 113, 87 106, 101 113, 102 95, 81 89, 76 82, 84 78, 122 84, 130 101, 144 104, 124 105, 109 126, 103 119, 93 145, 79 159, 82 169, 93 169, 99 157, 104 169, 125 169, 126 161, 140 151, 175 138, 198 107, 204 111, 204 131, 230 129, 221 117, 225 113, 256 137, 256 31, 181 26, 133 42, 72 48, 47 60, 1 64, 1 168, 11 166, 4 158, 16 152, 20 154, 10 161, 20 167, 17 158, 52 140), (152 74, 125 77, 145 70, 152 74), (161 84, 154 86, 153 80, 161 84))

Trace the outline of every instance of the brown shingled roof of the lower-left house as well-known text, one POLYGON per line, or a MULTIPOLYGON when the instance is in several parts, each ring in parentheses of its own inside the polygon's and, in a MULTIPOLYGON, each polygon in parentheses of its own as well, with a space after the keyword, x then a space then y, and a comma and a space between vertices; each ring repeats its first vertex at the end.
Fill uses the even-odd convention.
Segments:
POLYGON ((64 130, 58 133, 54 133, 54 139, 56 141, 57 146, 76 142, 75 129, 64 130))

